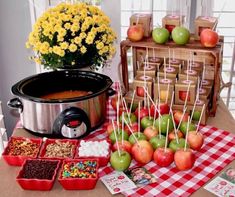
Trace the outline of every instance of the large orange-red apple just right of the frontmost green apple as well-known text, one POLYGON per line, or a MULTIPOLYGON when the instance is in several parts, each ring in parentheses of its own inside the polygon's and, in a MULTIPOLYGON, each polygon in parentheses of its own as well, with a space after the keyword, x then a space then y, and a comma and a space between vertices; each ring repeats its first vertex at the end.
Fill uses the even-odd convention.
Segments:
POLYGON ((140 164, 147 164, 152 160, 153 148, 146 140, 140 140, 132 146, 133 158, 140 164))

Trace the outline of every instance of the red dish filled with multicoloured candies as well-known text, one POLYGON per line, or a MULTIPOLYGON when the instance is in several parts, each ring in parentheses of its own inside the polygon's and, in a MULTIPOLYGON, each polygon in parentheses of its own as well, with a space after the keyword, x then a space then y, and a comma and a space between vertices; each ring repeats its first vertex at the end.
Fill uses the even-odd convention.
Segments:
POLYGON ((66 190, 89 190, 98 180, 97 159, 64 160, 58 181, 66 190))

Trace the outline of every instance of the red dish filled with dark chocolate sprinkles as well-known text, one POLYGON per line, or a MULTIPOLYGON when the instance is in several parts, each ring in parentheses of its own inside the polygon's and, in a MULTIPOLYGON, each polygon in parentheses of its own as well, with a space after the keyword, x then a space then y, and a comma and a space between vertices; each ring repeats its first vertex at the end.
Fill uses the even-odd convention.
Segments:
POLYGON ((60 160, 27 159, 16 177, 16 181, 25 190, 51 190, 60 163, 60 160))

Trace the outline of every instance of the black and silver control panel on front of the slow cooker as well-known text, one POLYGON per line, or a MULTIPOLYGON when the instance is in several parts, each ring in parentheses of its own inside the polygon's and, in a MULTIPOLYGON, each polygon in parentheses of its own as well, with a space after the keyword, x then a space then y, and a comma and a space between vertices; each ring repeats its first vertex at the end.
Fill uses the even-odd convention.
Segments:
POLYGON ((91 129, 87 114, 80 108, 69 107, 56 118, 53 133, 67 138, 81 138, 91 129))

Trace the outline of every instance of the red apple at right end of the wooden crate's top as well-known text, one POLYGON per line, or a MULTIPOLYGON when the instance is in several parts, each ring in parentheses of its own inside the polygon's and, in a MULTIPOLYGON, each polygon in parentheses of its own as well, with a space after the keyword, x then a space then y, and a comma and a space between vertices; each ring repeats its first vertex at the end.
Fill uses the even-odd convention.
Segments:
POLYGON ((200 41, 204 47, 215 47, 219 42, 219 35, 211 29, 203 29, 200 34, 200 41))

